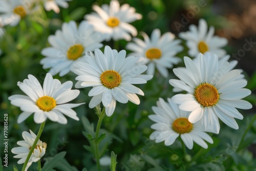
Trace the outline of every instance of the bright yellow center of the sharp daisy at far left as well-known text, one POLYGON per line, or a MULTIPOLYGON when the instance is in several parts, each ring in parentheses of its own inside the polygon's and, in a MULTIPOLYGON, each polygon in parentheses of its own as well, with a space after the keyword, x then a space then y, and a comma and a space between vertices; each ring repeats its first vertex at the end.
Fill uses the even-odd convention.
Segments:
POLYGON ((42 96, 36 101, 36 105, 40 110, 51 111, 56 106, 56 101, 54 98, 49 96, 42 96))

